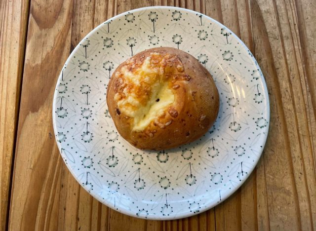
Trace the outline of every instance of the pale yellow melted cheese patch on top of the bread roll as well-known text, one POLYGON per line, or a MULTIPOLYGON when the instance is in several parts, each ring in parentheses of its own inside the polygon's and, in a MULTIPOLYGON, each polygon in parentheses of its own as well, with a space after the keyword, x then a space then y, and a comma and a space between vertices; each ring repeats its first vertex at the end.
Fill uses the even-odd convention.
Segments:
MULTIPOLYGON (((172 58, 174 69, 183 69, 181 61, 172 58)), ((132 60, 121 68, 119 82, 123 87, 114 99, 120 112, 133 118, 132 130, 143 131, 152 121, 163 117, 173 104, 175 96, 165 76, 165 67, 171 68, 169 60, 169 56, 151 53, 140 66, 135 67, 132 60)))

